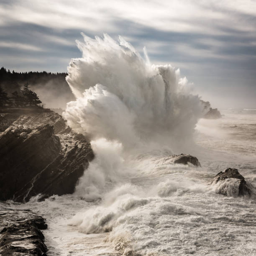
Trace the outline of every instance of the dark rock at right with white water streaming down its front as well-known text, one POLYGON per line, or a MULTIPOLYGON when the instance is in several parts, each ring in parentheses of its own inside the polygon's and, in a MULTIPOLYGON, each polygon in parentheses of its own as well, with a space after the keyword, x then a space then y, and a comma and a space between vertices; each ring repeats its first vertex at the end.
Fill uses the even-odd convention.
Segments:
POLYGON ((250 196, 252 193, 250 185, 238 172, 238 169, 228 168, 225 169, 225 172, 219 172, 212 183, 219 183, 218 193, 225 196, 250 196))

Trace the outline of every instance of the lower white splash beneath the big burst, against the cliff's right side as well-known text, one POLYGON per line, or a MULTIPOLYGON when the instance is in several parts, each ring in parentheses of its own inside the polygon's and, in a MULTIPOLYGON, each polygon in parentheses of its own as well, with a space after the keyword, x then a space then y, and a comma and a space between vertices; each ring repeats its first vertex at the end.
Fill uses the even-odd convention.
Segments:
POLYGON ((94 161, 76 187, 76 195, 87 201, 101 199, 113 184, 123 183, 130 174, 128 166, 123 164, 123 147, 116 141, 98 139, 92 141, 92 148, 97 152, 94 161))

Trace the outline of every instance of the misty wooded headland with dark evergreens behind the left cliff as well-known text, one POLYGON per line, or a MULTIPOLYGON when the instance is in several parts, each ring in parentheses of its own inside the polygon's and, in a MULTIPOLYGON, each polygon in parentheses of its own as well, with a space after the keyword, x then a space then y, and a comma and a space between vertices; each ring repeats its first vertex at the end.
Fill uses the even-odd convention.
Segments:
POLYGON ((11 72, 2 67, 0 68, 0 107, 39 106, 41 101, 35 91, 44 90, 48 94, 50 92, 52 96, 49 100, 42 96, 41 100, 46 104, 51 104, 52 99, 56 99, 56 102, 74 100, 66 76, 67 73, 64 72, 11 72))

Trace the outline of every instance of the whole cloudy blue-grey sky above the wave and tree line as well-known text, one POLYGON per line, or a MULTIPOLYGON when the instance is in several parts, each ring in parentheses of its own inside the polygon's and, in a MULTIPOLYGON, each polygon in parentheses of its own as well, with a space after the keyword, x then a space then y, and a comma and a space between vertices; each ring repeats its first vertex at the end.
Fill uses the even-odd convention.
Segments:
POLYGON ((146 46, 212 107, 256 108, 256 0, 0 0, 0 66, 66 72, 80 32, 146 46))

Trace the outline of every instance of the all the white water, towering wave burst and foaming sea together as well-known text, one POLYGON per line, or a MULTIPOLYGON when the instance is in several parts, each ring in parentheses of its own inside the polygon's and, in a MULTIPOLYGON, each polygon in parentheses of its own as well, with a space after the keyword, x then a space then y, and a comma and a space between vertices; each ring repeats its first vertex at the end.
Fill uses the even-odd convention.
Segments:
MULTIPOLYGON (((37 197, 48 254, 256 255, 256 201, 213 177, 236 168, 256 187, 256 111, 202 117, 200 97, 171 65, 152 65, 122 38, 84 36, 67 82, 77 100, 68 124, 90 139, 95 159, 73 195, 37 197), (173 164, 196 156, 202 167, 173 164)), ((254 191, 253 191, 254 192, 254 191)))

